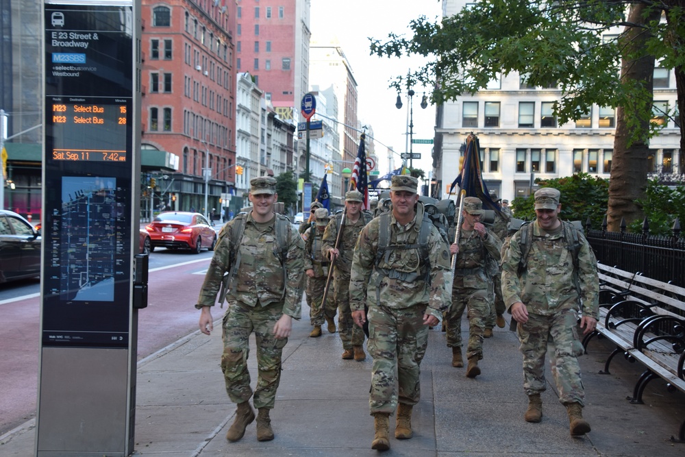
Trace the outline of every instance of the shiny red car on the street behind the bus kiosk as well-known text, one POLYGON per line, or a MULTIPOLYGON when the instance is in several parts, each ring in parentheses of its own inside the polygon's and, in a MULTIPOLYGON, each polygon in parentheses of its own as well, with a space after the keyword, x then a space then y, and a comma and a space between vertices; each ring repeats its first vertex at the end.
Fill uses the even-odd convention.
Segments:
POLYGON ((145 230, 150 235, 150 252, 155 247, 190 249, 199 254, 203 247, 214 251, 216 232, 199 212, 160 212, 145 230))

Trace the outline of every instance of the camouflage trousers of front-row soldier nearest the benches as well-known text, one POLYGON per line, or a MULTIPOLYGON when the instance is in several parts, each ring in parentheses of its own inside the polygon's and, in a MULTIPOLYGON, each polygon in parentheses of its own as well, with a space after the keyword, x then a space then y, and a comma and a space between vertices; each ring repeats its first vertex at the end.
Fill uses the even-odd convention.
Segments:
POLYGON ((575 310, 550 316, 528 314, 528 321, 516 326, 523 354, 523 390, 526 395, 545 391, 545 355, 549 354, 559 401, 562 404, 577 402, 584 406, 585 391, 577 359, 583 349, 578 338, 577 319, 575 310))

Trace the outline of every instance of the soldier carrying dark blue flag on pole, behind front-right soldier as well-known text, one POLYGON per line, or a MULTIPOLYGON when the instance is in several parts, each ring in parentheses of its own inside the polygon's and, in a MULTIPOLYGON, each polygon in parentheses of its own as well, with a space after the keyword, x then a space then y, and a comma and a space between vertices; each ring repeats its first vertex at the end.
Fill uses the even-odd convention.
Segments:
POLYGON ((463 367, 462 314, 469 307, 469 345, 466 376, 475 378, 481 373, 478 360, 483 358, 483 336, 490 304, 495 300, 493 275, 497 273, 499 250, 502 243, 497 235, 480 222, 485 213, 483 202, 477 197, 465 197, 462 210, 462 230, 458 243, 449 247, 457 256, 452 285, 452 302, 447 308, 447 347, 452 348, 452 366, 463 367))

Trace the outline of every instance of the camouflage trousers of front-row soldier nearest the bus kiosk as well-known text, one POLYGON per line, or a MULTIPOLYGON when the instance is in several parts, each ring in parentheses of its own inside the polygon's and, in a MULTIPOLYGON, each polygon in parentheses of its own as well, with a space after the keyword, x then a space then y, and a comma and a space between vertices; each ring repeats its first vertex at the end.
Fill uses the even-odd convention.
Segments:
POLYGON ((276 389, 281 380, 281 355, 288 338, 277 339, 273 326, 283 315, 282 302, 254 308, 229 301, 223 317, 223 354, 221 371, 226 392, 234 403, 247 402, 252 397, 250 373, 247 369, 249 338, 254 332, 257 343, 257 387, 252 403, 255 408, 273 408, 276 389))

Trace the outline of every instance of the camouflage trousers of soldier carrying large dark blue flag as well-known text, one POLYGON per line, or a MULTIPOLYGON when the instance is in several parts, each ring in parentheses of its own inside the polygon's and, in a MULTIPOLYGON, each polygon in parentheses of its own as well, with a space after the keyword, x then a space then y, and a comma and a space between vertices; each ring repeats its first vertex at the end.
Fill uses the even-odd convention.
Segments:
POLYGON ((469 307, 469 345, 466 347, 466 358, 478 356, 483 358, 483 334, 486 319, 490 315, 490 303, 493 301, 493 284, 485 289, 452 288, 452 303, 445 312, 447 322, 447 347, 462 346, 462 315, 469 307))

